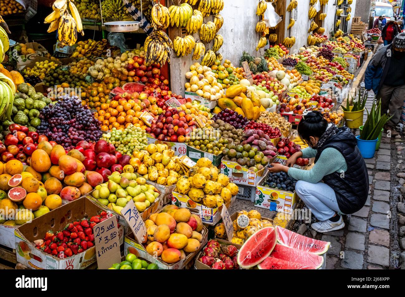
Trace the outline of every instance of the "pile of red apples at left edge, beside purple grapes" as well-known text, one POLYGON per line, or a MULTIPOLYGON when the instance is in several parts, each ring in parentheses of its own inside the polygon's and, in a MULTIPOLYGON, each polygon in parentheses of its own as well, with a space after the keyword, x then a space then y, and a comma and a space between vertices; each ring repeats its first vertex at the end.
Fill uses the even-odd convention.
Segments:
MULTIPOLYGON (((40 135, 38 132, 28 131, 26 126, 11 124, 9 131, 10 133, 4 137, 4 144, 0 141, 0 154, 3 162, 17 159, 26 165, 38 143, 48 141, 48 137, 40 135)), ((49 143, 52 146, 56 144, 55 141, 49 141, 49 143)))

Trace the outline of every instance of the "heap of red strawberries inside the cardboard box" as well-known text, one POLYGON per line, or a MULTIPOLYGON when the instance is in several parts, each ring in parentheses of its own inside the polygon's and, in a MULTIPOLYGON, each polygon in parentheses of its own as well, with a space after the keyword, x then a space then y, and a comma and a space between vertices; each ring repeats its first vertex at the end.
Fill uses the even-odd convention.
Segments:
POLYGON ((68 223, 64 230, 53 233, 48 231, 45 238, 36 240, 36 248, 53 256, 67 258, 77 255, 94 246, 93 228, 96 224, 107 219, 107 213, 102 211, 89 219, 81 219, 68 223), (63 252, 63 253, 61 253, 63 252))

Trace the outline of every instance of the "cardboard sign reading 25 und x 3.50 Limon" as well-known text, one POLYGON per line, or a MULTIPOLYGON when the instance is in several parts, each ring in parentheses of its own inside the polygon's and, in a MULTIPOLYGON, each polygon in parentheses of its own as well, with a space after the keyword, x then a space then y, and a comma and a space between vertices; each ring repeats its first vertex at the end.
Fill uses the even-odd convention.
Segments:
POLYGON ((112 264, 121 262, 118 237, 115 215, 94 226, 98 269, 108 269, 112 264))

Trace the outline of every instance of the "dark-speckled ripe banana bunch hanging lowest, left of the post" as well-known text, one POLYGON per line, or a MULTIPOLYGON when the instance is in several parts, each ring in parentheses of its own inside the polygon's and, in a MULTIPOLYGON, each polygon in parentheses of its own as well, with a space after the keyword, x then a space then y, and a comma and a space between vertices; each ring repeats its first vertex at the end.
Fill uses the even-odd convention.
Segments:
POLYGON ((153 31, 145 40, 145 62, 147 65, 170 63, 173 42, 162 30, 153 31))

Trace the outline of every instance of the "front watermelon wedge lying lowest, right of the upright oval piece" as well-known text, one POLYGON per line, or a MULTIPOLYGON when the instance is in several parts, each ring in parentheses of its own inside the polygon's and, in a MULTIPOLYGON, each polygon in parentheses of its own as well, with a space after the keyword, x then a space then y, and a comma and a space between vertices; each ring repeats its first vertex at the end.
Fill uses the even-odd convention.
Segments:
POLYGON ((273 252, 270 254, 270 257, 301 264, 304 266, 315 267, 316 269, 320 268, 324 263, 324 258, 320 255, 292 249, 279 243, 276 244, 273 252))

